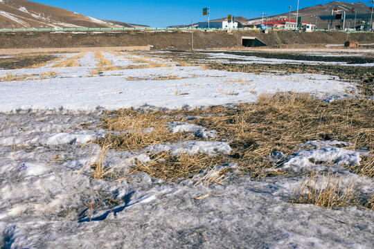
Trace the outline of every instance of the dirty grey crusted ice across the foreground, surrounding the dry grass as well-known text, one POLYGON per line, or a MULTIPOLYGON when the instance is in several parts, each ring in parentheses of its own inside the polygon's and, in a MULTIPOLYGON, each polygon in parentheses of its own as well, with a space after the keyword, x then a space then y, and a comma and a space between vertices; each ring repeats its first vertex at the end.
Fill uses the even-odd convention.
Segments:
MULTIPOLYGON (((166 183, 143 172, 122 181, 103 181, 91 178, 89 167, 96 162, 100 147, 94 144, 82 147, 80 142, 69 142, 70 139, 50 145, 44 139, 51 137, 51 131, 82 133, 79 125, 82 123, 91 123, 89 131, 103 136, 97 114, 41 112, 0 114, 0 118, 7 123, 1 126, 1 140, 15 138, 21 142, 24 133, 33 140, 29 147, 17 144, 15 166, 13 144, 0 145, 1 247, 164 248, 167 245, 179 248, 195 245, 217 248, 226 243, 239 248, 346 248, 347 245, 371 248, 373 212, 349 207, 326 210, 313 205, 292 206, 288 201, 301 178, 285 175, 256 181, 249 175, 238 177, 242 172, 236 172, 235 165, 217 165, 209 173, 211 176, 222 169, 235 169, 224 185, 204 185, 204 182, 195 185, 204 177, 204 172, 179 183, 166 183), (15 128, 20 126, 24 131, 15 133, 15 128), (87 207, 91 198, 95 208, 89 222, 87 207), (118 201, 103 202, 109 199, 118 201), (350 225, 341 225, 336 220, 350 225), (353 231, 355 237, 347 236, 353 231), (95 239, 91 239, 93 236, 95 239), (148 239, 144 240, 145 237, 148 239)), ((310 163, 308 168, 295 159, 311 158, 311 155, 317 158, 320 151, 335 151, 334 148, 339 155, 355 158, 358 152, 339 148, 346 145, 339 141, 315 140, 300 145, 300 151, 294 155, 278 152, 273 156, 285 158, 285 162, 294 159, 294 169, 287 162, 283 165, 286 171, 330 168, 341 176, 352 176, 357 185, 363 186, 362 194, 372 193, 371 178, 356 176, 339 165, 343 161, 355 163, 355 160, 335 159, 326 165, 314 166, 310 163)), ((231 153, 225 142, 186 141, 154 145, 142 151, 109 150, 104 165, 110 165, 114 171, 127 169, 128 172, 132 159, 147 162, 148 154, 166 150, 172 154, 181 151, 231 153)), ((317 159, 329 162, 330 158, 326 153, 317 159)))

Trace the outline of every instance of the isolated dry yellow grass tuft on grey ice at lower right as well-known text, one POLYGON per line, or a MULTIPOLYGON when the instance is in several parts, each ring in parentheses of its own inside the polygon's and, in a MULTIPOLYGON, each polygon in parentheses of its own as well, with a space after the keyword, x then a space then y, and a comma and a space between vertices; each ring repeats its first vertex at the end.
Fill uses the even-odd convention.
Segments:
POLYGON ((331 172, 317 175, 314 171, 308 174, 296 190, 292 191, 292 203, 308 203, 323 208, 337 208, 346 205, 362 205, 359 201, 360 190, 355 182, 348 179, 343 182, 342 177, 331 172))

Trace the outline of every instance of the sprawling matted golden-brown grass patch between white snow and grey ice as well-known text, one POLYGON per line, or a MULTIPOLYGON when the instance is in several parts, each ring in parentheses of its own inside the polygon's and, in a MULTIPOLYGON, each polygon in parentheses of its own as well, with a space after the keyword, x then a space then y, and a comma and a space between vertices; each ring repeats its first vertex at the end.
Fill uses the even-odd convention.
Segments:
MULTIPOLYGON (((285 160, 273 160, 271 154, 274 151, 291 155, 299 150, 298 145, 310 140, 340 140, 352 144, 346 146, 346 149, 366 148, 373 151, 373 113, 371 100, 337 100, 326 103, 308 94, 265 94, 260 96, 258 102, 238 104, 230 109, 217 106, 168 113, 143 113, 130 109, 107 112, 102 121, 103 127, 108 129, 109 133, 106 138, 96 142, 102 146, 108 144, 111 149, 135 151, 148 145, 166 142, 202 140, 203 138, 196 138, 192 133, 170 133, 168 130, 167 123, 170 121, 190 122, 217 131, 215 138, 204 138, 205 140, 229 142, 232 153, 230 156, 222 156, 222 163, 238 163, 243 172, 250 172, 253 178, 262 178, 276 176, 273 171, 267 169, 274 169, 285 160), (188 118, 191 116, 195 118, 188 118)), ((177 162, 177 165, 187 160, 170 155, 161 155, 160 158, 177 162)), ((158 167, 162 168, 161 172, 165 171, 167 163, 163 165, 161 161, 155 160, 151 165, 138 163, 136 170, 149 172, 154 177, 160 174, 161 178, 170 179, 188 175, 181 176, 177 173, 177 167, 168 174, 150 172, 159 170, 158 167)), ((203 162, 209 160, 204 159, 203 162)), ((217 161, 213 161, 213 164, 218 165, 217 161)), ((208 163, 204 165, 204 169, 213 167, 208 163)), ((348 168, 357 174, 373 177, 373 158, 364 157, 362 165, 348 168)))

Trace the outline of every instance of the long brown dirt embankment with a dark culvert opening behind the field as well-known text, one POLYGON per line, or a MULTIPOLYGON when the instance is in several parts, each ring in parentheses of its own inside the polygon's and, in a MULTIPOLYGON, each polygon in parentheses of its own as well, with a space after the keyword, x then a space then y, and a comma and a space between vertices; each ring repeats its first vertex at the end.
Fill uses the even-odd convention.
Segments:
MULTIPOLYGON (((241 37, 258 37, 267 45, 282 44, 344 44, 346 33, 319 31, 297 33, 294 31, 235 30, 227 33, 223 30, 204 32, 194 31, 194 48, 229 48, 241 45, 241 37)), ((348 39, 361 44, 374 41, 374 33, 350 33, 348 39)), ((150 30, 130 30, 125 32, 17 32, 0 33, 0 48, 82 48, 97 46, 145 46, 155 49, 191 48, 191 34, 188 30, 169 30, 161 32, 150 30)))

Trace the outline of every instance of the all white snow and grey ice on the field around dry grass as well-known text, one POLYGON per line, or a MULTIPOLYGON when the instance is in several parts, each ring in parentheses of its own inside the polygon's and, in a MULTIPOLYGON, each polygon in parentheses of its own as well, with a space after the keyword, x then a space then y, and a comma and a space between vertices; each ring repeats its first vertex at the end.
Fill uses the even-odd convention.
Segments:
MULTIPOLYGON (((135 65, 134 56, 105 53, 114 66, 135 65)), ((100 128, 103 108, 253 102, 262 92, 276 91, 312 92, 332 100, 355 89, 353 83, 324 75, 202 70, 177 62, 92 76, 94 55, 87 53, 79 63, 76 68, 0 71, 33 74, 0 82, 0 248, 373 248, 373 211, 290 203, 301 173, 312 169, 330 169, 362 186, 363 196, 373 193, 372 178, 343 167, 359 164, 359 154, 367 152, 339 149, 344 141, 310 141, 294 155, 274 154, 274 159, 287 156, 281 169, 288 174, 260 181, 236 165, 220 165, 210 176, 233 169, 222 185, 207 184, 206 172, 177 183, 127 173, 132 159, 150 160, 148 154, 155 151, 229 154, 224 141, 109 150, 105 165, 126 172, 118 180, 92 178, 90 165, 100 147, 86 144, 107 133, 100 128), (51 70, 57 75, 38 79, 51 70), (310 159, 326 163, 314 165, 310 159)), ((188 122, 169 125, 172 132, 215 136, 188 122)))

